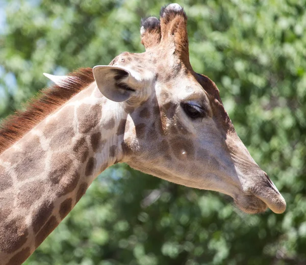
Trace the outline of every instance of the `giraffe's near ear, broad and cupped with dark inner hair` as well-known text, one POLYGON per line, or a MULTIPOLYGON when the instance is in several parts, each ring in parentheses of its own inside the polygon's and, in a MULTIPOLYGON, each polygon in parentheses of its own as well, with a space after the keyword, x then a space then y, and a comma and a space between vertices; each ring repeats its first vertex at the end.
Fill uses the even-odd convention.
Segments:
POLYGON ((124 68, 97 65, 92 71, 98 89, 110 100, 122 102, 129 99, 135 92, 128 83, 131 73, 124 68))

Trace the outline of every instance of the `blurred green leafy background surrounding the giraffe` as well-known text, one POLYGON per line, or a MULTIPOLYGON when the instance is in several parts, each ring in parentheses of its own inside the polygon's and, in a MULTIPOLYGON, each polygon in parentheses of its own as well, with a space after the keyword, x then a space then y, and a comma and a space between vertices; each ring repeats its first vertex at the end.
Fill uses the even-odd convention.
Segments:
MULTIPOLYGON (((246 215, 222 194, 126 165, 103 172, 26 265, 306 264, 304 0, 180 1, 190 60, 218 86, 238 135, 287 201, 246 215)), ((140 19, 164 1, 0 0, 0 119, 42 75, 143 52, 140 19)))

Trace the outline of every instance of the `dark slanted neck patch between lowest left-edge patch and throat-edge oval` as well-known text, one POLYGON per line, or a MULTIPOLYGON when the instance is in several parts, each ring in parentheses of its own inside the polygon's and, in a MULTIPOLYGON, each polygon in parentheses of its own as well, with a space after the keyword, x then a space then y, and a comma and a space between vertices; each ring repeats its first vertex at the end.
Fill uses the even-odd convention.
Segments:
POLYGON ((45 200, 34 211, 33 217, 32 217, 32 227, 33 227, 33 231, 35 234, 40 230, 40 228, 48 220, 49 216, 52 214, 53 209, 54 209, 53 202, 45 200))

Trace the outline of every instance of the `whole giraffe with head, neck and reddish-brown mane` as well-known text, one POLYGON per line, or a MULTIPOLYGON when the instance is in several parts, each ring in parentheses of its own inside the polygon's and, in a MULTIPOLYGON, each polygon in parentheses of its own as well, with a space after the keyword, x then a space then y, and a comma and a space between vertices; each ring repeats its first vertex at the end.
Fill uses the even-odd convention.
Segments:
POLYGON ((178 4, 141 21, 145 52, 68 76, 0 130, 0 260, 21 264, 115 163, 233 197, 248 214, 286 202, 236 134, 216 85, 189 62, 178 4))

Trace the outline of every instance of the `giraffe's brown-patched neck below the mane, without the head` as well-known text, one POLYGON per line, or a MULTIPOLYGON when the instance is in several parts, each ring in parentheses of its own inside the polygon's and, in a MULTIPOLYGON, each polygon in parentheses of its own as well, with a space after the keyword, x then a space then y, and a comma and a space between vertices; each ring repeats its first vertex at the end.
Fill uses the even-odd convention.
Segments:
POLYGON ((0 155, 0 260, 19 264, 122 158, 126 113, 95 83, 0 155))

